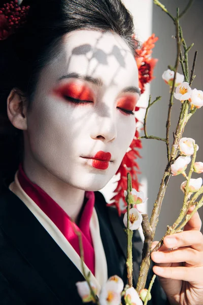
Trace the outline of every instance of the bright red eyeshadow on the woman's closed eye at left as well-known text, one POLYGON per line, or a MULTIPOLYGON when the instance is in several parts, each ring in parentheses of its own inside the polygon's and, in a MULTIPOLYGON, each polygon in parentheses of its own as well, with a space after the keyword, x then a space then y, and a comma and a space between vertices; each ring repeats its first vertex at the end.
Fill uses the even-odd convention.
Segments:
POLYGON ((58 86, 54 89, 54 94, 62 98, 70 98, 70 100, 93 101, 92 90, 88 86, 76 82, 58 86))

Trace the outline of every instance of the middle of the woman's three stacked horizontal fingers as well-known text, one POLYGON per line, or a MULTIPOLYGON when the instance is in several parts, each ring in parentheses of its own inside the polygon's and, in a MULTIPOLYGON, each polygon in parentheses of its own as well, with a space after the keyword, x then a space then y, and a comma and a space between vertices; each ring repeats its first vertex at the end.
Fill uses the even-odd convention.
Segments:
POLYGON ((153 252, 151 258, 158 264, 186 262, 192 266, 203 266, 203 253, 192 248, 153 252))

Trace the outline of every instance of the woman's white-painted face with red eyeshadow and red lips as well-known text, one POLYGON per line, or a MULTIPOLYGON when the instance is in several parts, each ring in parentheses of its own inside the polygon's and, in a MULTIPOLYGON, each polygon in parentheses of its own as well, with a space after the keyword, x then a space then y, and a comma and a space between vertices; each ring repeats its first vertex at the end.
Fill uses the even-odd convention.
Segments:
POLYGON ((138 99, 138 68, 122 38, 65 35, 27 114, 25 156, 75 188, 103 188, 133 139, 138 99))

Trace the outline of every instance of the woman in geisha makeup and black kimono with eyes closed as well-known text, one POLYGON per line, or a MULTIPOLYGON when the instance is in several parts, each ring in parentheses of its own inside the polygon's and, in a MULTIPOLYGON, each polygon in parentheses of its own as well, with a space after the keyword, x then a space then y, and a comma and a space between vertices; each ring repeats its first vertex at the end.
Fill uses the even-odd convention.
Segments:
MULTIPOLYGON (((136 130, 133 24, 119 0, 23 5, 30 5, 26 24, 0 41, 1 304, 81 304, 76 282, 84 278, 75 229, 82 234, 86 271, 98 289, 115 274, 126 279, 122 220, 96 191, 116 173, 136 130)), ((179 278, 175 272, 167 282, 162 279, 171 304, 202 302, 199 220, 190 225, 189 234, 177 236, 181 246, 192 246, 179 251, 193 265, 188 249, 196 249, 198 265, 187 268, 191 284, 178 268, 179 278), (173 279, 180 280, 175 287, 173 279)), ((136 282, 138 232, 133 243, 136 282)), ((153 254, 154 261, 180 261, 174 252, 169 258, 164 254, 164 259, 153 254)), ((157 283, 154 304, 164 303, 160 293, 157 283)))

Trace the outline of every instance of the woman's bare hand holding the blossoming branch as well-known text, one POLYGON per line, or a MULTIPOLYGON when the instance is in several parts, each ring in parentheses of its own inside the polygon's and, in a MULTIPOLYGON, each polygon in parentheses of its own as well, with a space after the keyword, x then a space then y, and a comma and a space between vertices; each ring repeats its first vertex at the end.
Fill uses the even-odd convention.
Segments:
MULTIPOLYGON (((153 271, 173 305, 203 304, 203 235, 200 228, 201 220, 196 212, 183 232, 164 237, 163 246, 151 254, 157 263, 153 271)), ((156 244, 154 241, 152 247, 156 244)))

